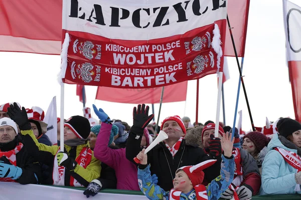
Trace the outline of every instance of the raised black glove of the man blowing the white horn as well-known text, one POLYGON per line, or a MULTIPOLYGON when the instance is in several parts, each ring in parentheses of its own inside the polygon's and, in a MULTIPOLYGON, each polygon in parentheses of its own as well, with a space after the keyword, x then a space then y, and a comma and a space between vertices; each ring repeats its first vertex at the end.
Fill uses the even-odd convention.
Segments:
POLYGON ((141 132, 143 133, 143 129, 147 126, 149 121, 151 121, 154 117, 154 114, 150 114, 148 116, 149 106, 145 107, 145 104, 138 104, 138 108, 133 108, 133 125, 131 130, 133 132, 141 132))

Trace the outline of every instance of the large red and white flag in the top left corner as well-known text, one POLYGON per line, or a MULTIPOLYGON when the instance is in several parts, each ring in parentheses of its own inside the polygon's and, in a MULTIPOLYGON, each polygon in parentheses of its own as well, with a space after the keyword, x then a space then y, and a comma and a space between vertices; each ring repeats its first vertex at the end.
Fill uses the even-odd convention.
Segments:
POLYGON ((0 51, 60 54, 62 0, 0 0, 0 51))

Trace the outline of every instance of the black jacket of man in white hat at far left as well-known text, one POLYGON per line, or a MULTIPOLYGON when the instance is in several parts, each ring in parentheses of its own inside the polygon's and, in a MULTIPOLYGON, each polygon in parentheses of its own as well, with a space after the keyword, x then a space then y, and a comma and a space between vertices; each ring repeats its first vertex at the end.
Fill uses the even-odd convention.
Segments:
MULTIPOLYGON (((21 184, 39 183, 42 175, 41 166, 27 151, 27 143, 23 140, 23 137, 20 133, 17 134, 13 141, 1 145, 0 149, 1 151, 10 151, 16 147, 18 142, 23 143, 23 148, 16 154, 17 166, 22 168, 22 175, 16 181, 20 182, 21 184)), ((5 159, 0 158, 0 160, 3 161, 5 161, 5 159)))

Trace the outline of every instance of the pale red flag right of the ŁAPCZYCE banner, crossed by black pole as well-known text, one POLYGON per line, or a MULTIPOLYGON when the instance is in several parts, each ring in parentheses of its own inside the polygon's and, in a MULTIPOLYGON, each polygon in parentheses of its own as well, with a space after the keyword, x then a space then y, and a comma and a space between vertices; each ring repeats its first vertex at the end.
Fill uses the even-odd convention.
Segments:
MULTIPOLYGON (((244 57, 250 0, 228 0, 227 13, 237 55, 244 57)), ((226 31, 225 56, 235 56, 229 28, 226 31)))

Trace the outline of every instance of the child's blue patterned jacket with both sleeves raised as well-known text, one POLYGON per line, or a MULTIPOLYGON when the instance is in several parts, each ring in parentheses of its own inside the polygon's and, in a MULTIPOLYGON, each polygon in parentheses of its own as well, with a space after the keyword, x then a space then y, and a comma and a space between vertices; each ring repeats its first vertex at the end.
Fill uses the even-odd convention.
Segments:
MULTIPOLYGON (((233 155, 231 159, 227 159, 222 155, 220 175, 206 186, 208 200, 219 199, 221 194, 229 187, 234 178, 234 165, 233 155)), ((138 168, 138 183, 140 190, 148 199, 169 200, 170 191, 166 192, 159 185, 153 183, 149 164, 144 169, 138 168)), ((182 192, 180 199, 196 199, 195 190, 193 189, 188 194, 182 192)))

